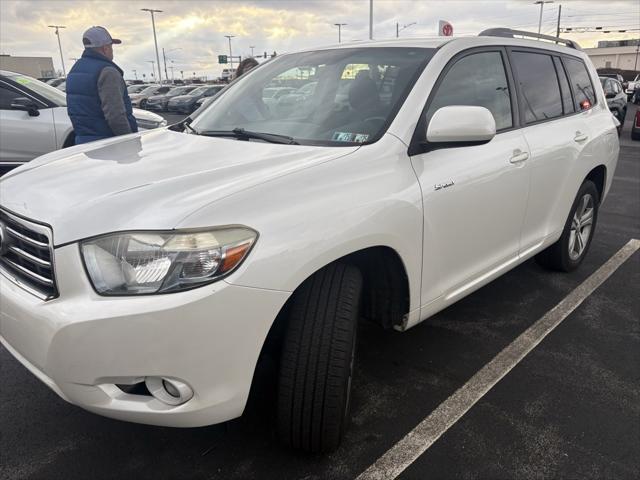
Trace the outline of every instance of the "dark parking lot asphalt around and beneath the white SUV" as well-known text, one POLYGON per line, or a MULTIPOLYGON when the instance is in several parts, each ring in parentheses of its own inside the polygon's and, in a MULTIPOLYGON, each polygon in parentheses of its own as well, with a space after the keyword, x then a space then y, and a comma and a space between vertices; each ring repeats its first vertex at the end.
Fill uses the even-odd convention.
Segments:
MULTIPOLYGON (((353 420, 330 455, 281 447, 266 359, 245 414, 170 429, 65 403, 0 348, 0 478, 355 478, 562 301, 640 238, 640 142, 630 105, 612 190, 571 274, 528 261, 415 328, 362 323, 353 420)), ((636 252, 398 478, 640 476, 640 252, 636 252)))

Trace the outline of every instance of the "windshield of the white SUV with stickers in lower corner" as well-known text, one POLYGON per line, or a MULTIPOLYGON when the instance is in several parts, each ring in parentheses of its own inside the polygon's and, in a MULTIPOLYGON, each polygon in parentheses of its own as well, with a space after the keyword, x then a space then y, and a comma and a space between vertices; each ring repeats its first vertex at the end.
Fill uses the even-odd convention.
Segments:
POLYGON ((283 55, 240 78, 190 126, 195 133, 244 129, 309 145, 373 142, 434 52, 374 47, 283 55))

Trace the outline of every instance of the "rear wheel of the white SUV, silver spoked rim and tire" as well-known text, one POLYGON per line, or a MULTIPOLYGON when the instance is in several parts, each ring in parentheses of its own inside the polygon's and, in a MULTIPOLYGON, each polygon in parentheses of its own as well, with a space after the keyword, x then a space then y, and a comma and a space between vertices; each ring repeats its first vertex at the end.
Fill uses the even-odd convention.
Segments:
POLYGON ((586 180, 571 206, 560 239, 536 256, 536 261, 551 270, 570 272, 578 268, 589 250, 598 220, 600 196, 595 184, 586 180))

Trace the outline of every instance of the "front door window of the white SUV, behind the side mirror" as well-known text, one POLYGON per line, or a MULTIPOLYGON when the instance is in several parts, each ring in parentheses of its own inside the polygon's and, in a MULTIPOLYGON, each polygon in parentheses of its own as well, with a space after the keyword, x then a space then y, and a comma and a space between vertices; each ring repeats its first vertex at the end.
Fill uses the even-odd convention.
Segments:
POLYGON ((473 53, 458 60, 440 82, 427 119, 450 105, 485 107, 493 114, 496 130, 513 126, 511 94, 500 52, 473 53))

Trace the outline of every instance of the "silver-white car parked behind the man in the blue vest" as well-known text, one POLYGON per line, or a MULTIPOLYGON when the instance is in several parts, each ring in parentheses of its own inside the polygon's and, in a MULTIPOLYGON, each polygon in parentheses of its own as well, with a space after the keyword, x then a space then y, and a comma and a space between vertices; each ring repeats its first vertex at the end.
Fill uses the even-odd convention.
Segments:
MULTIPOLYGON (((0 70, 0 174, 40 155, 74 144, 66 96, 44 82, 0 70)), ((166 120, 134 109, 138 127, 162 127, 166 120)))

